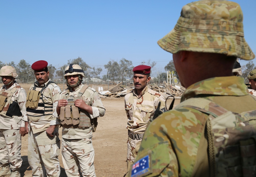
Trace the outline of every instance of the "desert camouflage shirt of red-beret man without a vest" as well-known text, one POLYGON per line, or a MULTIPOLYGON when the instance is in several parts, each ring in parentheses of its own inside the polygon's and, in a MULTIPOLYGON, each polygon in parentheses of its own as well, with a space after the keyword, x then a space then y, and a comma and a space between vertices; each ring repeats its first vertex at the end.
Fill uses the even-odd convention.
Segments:
POLYGON ((165 98, 156 91, 151 90, 148 85, 143 89, 141 95, 137 95, 135 89, 128 92, 124 97, 125 111, 128 118, 126 128, 133 134, 144 133, 150 115, 153 116, 158 103, 160 109, 165 109, 165 98))

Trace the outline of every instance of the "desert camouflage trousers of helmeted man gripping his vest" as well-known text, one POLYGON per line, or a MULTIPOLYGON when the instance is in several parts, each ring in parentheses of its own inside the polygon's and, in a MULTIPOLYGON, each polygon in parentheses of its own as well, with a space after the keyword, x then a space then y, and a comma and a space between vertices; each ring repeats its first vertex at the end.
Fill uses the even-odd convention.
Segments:
POLYGON ((62 161, 68 177, 96 177, 94 171, 94 149, 92 138, 61 140, 62 161))

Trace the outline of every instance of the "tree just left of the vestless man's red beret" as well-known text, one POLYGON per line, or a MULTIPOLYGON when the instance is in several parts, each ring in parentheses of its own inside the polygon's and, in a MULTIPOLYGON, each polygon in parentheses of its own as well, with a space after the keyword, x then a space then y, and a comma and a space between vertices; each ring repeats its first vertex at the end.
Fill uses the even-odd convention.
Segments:
POLYGON ((119 61, 119 66, 120 66, 120 73, 121 73, 121 79, 122 82, 123 80, 126 81, 127 78, 131 78, 133 75, 132 69, 132 61, 131 60, 126 60, 125 58, 122 58, 119 61))

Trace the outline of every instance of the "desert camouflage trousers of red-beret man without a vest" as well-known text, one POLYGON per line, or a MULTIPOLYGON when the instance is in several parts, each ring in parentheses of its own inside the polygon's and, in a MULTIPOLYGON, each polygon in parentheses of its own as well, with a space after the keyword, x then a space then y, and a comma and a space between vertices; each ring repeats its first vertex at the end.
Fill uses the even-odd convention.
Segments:
POLYGON ((127 139, 127 171, 130 171, 131 166, 135 158, 137 157, 137 153, 141 146, 141 140, 133 140, 128 137, 127 139))

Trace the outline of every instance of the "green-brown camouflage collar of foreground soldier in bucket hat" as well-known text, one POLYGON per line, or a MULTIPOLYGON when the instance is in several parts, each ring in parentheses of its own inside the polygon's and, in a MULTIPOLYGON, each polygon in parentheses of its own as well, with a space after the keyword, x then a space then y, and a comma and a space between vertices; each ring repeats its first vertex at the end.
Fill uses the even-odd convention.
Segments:
POLYGON ((249 94, 241 77, 215 77, 190 85, 183 93, 181 102, 197 95, 243 96, 249 94))

